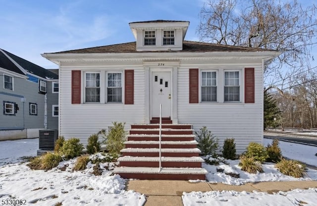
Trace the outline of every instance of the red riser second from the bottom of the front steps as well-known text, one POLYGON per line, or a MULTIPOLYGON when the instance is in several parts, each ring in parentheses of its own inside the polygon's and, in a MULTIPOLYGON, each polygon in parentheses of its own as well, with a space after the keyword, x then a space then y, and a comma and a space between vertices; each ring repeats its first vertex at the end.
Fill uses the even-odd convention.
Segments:
MULTIPOLYGON (((159 167, 159 162, 122 162, 120 166, 141 166, 141 167, 159 167)), ((199 162, 161 162, 163 167, 202 167, 199 162)))

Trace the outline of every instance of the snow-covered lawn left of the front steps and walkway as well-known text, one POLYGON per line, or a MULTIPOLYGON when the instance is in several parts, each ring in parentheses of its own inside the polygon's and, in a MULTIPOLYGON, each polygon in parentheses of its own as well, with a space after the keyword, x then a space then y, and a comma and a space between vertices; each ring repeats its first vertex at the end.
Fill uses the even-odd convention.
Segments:
POLYGON ((57 203, 63 206, 142 206, 145 203, 144 195, 125 191, 126 180, 108 170, 100 176, 91 174, 92 167, 72 171, 75 160, 61 162, 49 171, 31 170, 26 163, 16 163, 21 162, 19 157, 36 155, 38 139, 2 141, 0 146, 1 201, 25 200, 26 205, 34 206, 57 203), (62 171, 64 165, 68 167, 62 171))

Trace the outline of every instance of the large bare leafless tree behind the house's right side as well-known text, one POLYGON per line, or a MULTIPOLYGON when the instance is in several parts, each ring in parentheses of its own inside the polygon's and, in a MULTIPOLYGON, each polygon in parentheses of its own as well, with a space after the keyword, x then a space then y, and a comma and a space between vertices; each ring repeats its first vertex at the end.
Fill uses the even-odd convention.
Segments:
POLYGON ((281 51, 264 70, 266 84, 281 88, 311 69, 316 11, 315 5, 303 7, 297 0, 209 0, 197 32, 201 41, 281 51))

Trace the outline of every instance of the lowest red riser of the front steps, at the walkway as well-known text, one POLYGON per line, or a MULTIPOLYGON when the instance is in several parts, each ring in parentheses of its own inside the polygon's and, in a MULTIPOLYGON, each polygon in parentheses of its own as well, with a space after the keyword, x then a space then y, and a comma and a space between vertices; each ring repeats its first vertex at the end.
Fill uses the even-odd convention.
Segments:
POLYGON ((205 180, 205 174, 147 174, 147 173, 117 173, 125 179, 156 179, 156 180, 205 180))

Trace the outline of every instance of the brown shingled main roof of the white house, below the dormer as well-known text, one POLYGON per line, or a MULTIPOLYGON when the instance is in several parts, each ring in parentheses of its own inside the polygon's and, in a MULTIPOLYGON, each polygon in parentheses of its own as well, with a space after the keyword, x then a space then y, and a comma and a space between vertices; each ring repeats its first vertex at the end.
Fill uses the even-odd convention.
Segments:
POLYGON ((181 51, 137 51, 136 42, 112 44, 106 46, 97 46, 91 48, 75 49, 69 51, 55 52, 63 53, 149 53, 149 52, 247 52, 247 51, 275 51, 271 49, 231 46, 224 44, 206 43, 199 41, 183 41, 183 50, 181 51))

